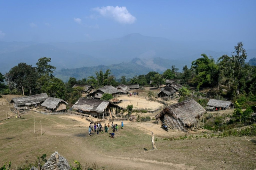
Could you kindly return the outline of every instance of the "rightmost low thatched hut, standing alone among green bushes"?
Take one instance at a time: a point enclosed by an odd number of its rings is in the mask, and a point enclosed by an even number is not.
[[[211,110],[225,110],[234,108],[234,104],[230,101],[210,99],[207,103],[207,109]]]

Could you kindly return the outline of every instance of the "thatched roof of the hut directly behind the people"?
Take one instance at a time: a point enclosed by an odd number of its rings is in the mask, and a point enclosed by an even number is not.
[[[102,113],[102,112],[104,112],[105,108],[108,105],[119,107],[118,105],[116,105],[110,101],[86,99],[86,98],[81,97],[80,99],[78,99],[77,102],[75,102],[75,104],[72,106],[72,108],[75,110],[82,110],[85,112],[94,111],[97,113]]]

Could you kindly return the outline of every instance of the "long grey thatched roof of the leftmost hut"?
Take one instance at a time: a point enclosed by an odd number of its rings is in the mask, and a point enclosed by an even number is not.
[[[32,105],[45,101],[48,98],[46,93],[35,94],[25,97],[16,97],[11,99],[11,103],[14,102],[17,106],[20,105]]]

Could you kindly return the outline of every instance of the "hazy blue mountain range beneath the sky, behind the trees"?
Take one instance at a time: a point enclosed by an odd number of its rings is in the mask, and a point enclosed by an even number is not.
[[[202,53],[215,59],[223,54],[231,56],[234,45],[236,44],[227,45],[211,41],[174,42],[137,33],[94,42],[0,42],[0,72],[8,72],[19,62],[35,66],[40,57],[50,57],[50,64],[57,68],[55,75],[64,81],[69,76],[80,75],[87,78],[85,76],[94,75],[99,69],[108,68],[111,68],[111,73],[117,78],[122,75],[132,77],[151,70],[161,73],[172,65],[182,70],[185,65],[190,67],[191,62]],[[248,60],[256,57],[256,49],[246,51]],[[69,69],[72,70],[70,73]],[[81,78],[80,76],[76,78]]]

